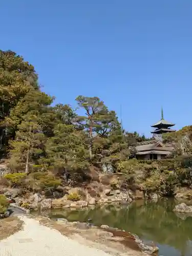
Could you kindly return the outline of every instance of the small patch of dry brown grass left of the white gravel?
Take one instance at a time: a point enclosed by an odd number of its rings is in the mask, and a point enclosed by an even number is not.
[[[0,219],[0,240],[6,239],[12,234],[22,229],[23,221],[17,217],[9,217],[6,219]]]

